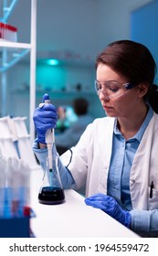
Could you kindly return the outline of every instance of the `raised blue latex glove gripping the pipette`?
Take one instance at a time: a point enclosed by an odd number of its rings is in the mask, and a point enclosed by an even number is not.
[[[58,121],[57,109],[54,105],[50,104],[48,94],[43,96],[41,104],[34,112],[33,120],[37,131],[37,142],[46,144],[45,134],[47,129],[53,129]]]

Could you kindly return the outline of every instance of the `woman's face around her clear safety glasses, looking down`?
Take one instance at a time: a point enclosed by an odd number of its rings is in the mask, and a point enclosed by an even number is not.
[[[129,80],[122,77],[119,73],[116,73],[109,66],[100,63],[97,68],[96,80],[100,82],[101,85],[105,81],[115,80],[119,81],[121,84],[130,82]],[[126,90],[124,94],[117,98],[108,98],[105,93],[100,91],[100,102],[106,112],[110,117],[127,117],[129,118],[131,114],[137,111],[137,108],[142,104],[142,93],[139,86],[132,88],[131,90]]]

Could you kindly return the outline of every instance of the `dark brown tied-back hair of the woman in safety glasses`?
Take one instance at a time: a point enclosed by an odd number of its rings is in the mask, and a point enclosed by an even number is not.
[[[115,41],[100,52],[96,69],[100,63],[110,66],[134,85],[148,83],[149,90],[144,101],[148,101],[153,110],[158,112],[158,87],[153,84],[156,64],[148,48],[131,40]]]

